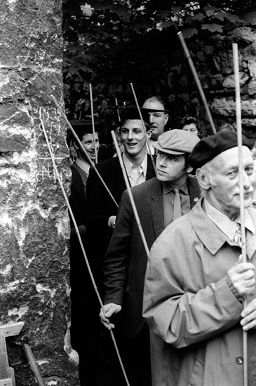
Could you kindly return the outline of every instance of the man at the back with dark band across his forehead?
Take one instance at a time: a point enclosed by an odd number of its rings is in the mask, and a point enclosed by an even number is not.
[[[149,114],[149,125],[152,130],[149,146],[151,154],[154,154],[153,142],[157,141],[159,135],[163,134],[165,130],[169,119],[168,109],[161,98],[153,96],[144,101],[142,111]]]

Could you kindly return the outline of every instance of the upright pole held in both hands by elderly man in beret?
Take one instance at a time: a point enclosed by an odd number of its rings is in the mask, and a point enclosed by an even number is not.
[[[233,44],[234,58],[234,76],[236,84],[236,131],[238,142],[238,161],[239,161],[239,192],[240,192],[240,217],[241,217],[241,239],[242,239],[242,256],[243,262],[246,262],[246,238],[245,238],[245,210],[244,210],[244,189],[243,189],[243,152],[242,152],[242,124],[241,124],[241,99],[240,99],[240,79],[239,79],[239,64],[238,64],[238,47]],[[243,302],[243,307],[246,307],[247,299]],[[243,331],[243,385],[248,386],[248,335],[247,331]]]

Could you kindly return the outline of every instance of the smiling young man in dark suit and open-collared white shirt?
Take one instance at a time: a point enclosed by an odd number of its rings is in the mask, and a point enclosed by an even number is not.
[[[151,129],[147,121],[144,126],[137,108],[127,107],[122,110],[120,138],[124,147],[123,163],[130,185],[139,185],[155,176],[154,166],[146,152],[146,140],[150,138]],[[147,117],[148,114],[145,114]],[[113,157],[96,165],[102,179],[119,204],[126,189],[118,157]],[[94,269],[97,284],[102,296],[102,261],[115,227],[117,206],[103,187],[95,171],[90,173],[87,182],[86,199],[86,253]]]

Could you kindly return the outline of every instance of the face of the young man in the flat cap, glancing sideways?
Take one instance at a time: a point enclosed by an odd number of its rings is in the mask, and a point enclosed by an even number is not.
[[[187,179],[184,155],[163,153],[159,150],[156,157],[156,177],[159,181],[180,186]]]

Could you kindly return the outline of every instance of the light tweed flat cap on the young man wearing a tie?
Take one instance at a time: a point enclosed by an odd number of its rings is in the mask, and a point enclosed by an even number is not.
[[[179,155],[191,153],[198,142],[197,135],[175,128],[159,135],[159,139],[153,142],[153,146],[163,153]]]

